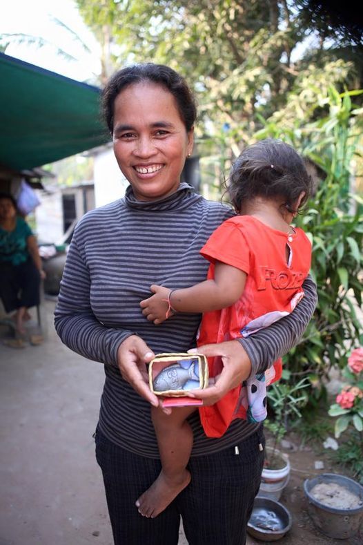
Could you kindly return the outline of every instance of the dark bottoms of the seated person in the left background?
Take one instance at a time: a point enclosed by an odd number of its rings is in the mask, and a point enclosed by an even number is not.
[[[39,305],[40,274],[32,258],[20,265],[0,263],[0,298],[6,312]]]

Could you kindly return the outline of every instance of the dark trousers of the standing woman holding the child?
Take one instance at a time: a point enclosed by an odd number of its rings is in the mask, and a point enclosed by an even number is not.
[[[160,462],[116,446],[97,430],[96,457],[115,545],[177,545],[180,515],[190,545],[244,545],[264,463],[259,443],[264,446],[262,430],[238,449],[191,458],[190,484],[163,513],[148,519],[135,501],[159,475]]]

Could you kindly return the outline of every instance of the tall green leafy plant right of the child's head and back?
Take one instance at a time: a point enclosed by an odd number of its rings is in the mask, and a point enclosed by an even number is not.
[[[284,358],[291,381],[311,381],[311,401],[333,366],[344,367],[356,339],[363,340],[356,308],[362,305],[363,200],[352,190],[361,157],[362,108],[352,102],[363,91],[338,93],[331,86],[325,96],[316,93],[308,121],[297,117],[284,124],[273,116],[258,138],[282,138],[311,161],[317,187],[296,224],[311,239],[311,274],[317,283],[318,305],[300,343]],[[325,115],[324,115],[325,114]]]

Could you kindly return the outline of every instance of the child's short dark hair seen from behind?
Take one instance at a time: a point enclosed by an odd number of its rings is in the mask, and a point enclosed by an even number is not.
[[[232,166],[227,191],[237,211],[255,197],[283,198],[284,207],[296,213],[295,202],[305,191],[300,208],[312,190],[311,176],[302,157],[282,140],[266,138],[248,146]]]

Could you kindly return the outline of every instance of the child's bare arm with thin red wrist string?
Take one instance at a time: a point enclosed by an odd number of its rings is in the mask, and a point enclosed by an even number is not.
[[[177,312],[209,312],[229,307],[242,296],[246,277],[241,269],[217,261],[214,280],[175,289],[171,294],[167,287],[152,285],[150,289],[154,295],[140,303],[142,314],[149,321],[160,324],[166,320],[169,303]]]

